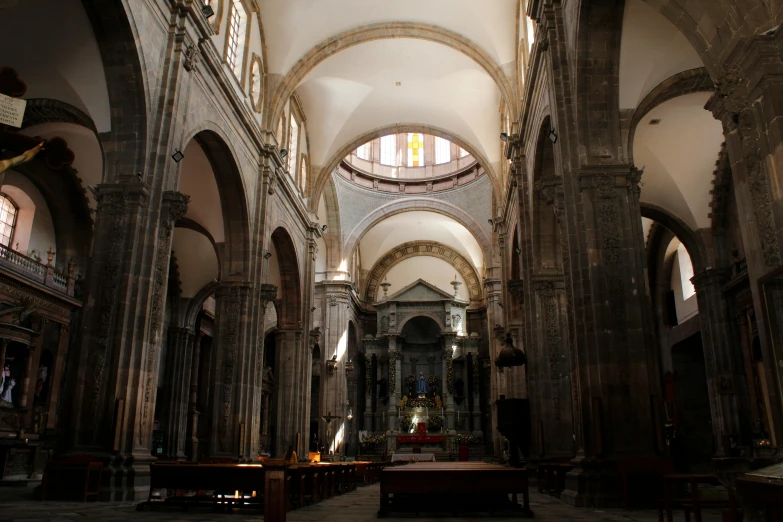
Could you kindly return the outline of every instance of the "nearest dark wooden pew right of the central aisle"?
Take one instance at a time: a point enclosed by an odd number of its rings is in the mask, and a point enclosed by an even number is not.
[[[521,506],[517,500],[520,493]],[[504,502],[506,506],[502,505]],[[419,462],[387,467],[381,471],[378,516],[392,511],[455,515],[464,511],[511,511],[531,517],[528,470],[482,462]]]

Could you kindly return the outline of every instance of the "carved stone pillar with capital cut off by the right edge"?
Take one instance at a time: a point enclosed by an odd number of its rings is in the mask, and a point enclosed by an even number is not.
[[[762,286],[765,276],[783,265],[783,189],[780,183],[783,90],[779,73],[783,57],[780,34],[778,31],[775,35],[755,35],[737,45],[727,56],[727,63],[715,81],[716,92],[705,107],[723,124],[738,224],[765,361],[783,360],[783,333],[779,328],[770,327],[769,321],[769,317],[780,314],[775,308],[783,296],[771,299],[764,295]],[[768,382],[783,379],[783,366],[779,364],[768,364],[765,371]],[[783,433],[783,398],[772,394],[770,400],[774,424],[770,431]],[[780,445],[779,435],[777,445]]]

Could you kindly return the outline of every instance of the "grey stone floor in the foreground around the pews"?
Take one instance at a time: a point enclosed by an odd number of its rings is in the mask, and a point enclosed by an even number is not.
[[[376,520],[380,487],[360,487],[347,495],[341,495],[320,502],[314,506],[292,511],[288,520],[316,521],[341,520],[362,521]],[[655,511],[626,511],[623,509],[587,509],[572,508],[559,500],[537,492],[531,494],[531,509],[535,520],[569,521],[590,520],[592,522],[656,522]],[[703,514],[703,522],[719,522],[720,513],[708,510]],[[440,517],[437,519],[408,516],[405,518],[387,518],[384,520],[470,520],[475,522],[485,517],[471,518]],[[501,517],[495,517],[499,519]],[[182,511],[136,511],[135,503],[88,503],[75,502],[36,502],[32,500],[31,490],[16,488],[0,488],[0,521],[3,522],[44,522],[71,520],[112,520],[112,521],[231,521],[245,522],[263,520],[254,512],[246,511],[235,514],[213,513],[208,510]],[[685,520],[682,513],[676,514],[675,521]]]

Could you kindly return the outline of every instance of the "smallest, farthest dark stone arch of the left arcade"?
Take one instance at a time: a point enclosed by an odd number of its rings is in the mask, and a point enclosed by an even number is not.
[[[280,328],[299,327],[302,322],[302,290],[299,264],[291,235],[283,227],[272,232],[272,243],[280,265],[280,299],[277,324]]]

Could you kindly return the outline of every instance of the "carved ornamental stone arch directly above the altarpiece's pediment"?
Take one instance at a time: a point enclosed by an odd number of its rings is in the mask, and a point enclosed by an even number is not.
[[[471,301],[481,301],[481,278],[473,264],[453,248],[437,241],[410,241],[397,245],[375,262],[367,276],[364,299],[367,303],[375,300],[375,292],[383,277],[396,265],[411,257],[427,256],[442,259],[453,266],[465,279]]]

